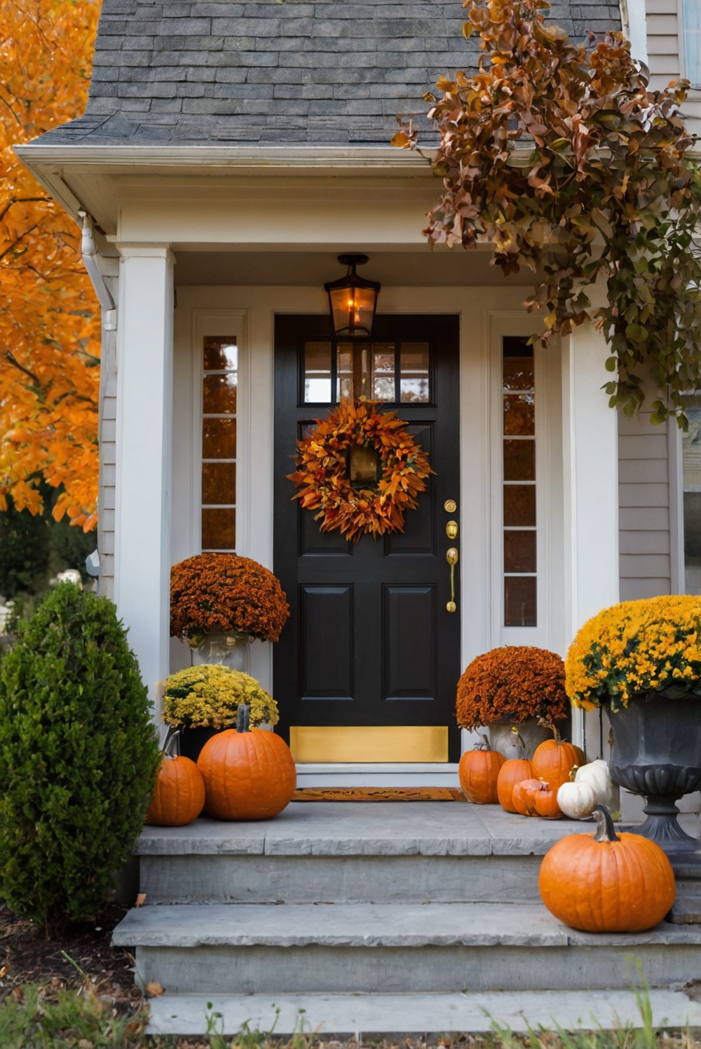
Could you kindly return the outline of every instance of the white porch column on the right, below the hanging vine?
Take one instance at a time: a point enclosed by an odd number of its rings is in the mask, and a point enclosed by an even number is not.
[[[568,645],[618,601],[618,420],[601,386],[606,339],[587,322],[562,339],[565,614]],[[599,714],[573,712],[574,743],[599,756]],[[606,741],[604,741],[606,743]]]

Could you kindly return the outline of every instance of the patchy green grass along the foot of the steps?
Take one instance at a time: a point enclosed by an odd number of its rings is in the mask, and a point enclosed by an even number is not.
[[[636,993],[641,1015],[636,1028],[621,1025],[616,1030],[575,1032],[558,1028],[523,1034],[493,1020],[488,1033],[446,1034],[431,1042],[437,1049],[701,1049],[699,1032],[656,1029],[644,984]],[[320,1039],[303,1010],[289,1039],[276,1037],[274,1029],[251,1030],[248,1024],[233,1036],[224,1035],[221,1016],[213,1011],[207,1034],[199,1037],[148,1035],[147,1024],[147,1005],[136,1003],[125,1013],[87,977],[78,988],[59,980],[27,983],[0,1002],[0,1049],[359,1049],[355,1041],[344,1046]],[[383,1039],[363,1044],[368,1049],[428,1049],[419,1037],[401,1046]]]

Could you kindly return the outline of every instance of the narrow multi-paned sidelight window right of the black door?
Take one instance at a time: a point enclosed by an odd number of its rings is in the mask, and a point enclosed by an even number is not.
[[[503,339],[504,625],[537,624],[533,347]]]

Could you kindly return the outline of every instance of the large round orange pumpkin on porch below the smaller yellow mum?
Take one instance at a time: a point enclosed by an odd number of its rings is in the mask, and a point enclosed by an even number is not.
[[[249,728],[246,704],[236,728],[212,736],[197,768],[205,780],[205,807],[215,819],[270,819],[290,804],[297,773],[290,748],[274,732]]]

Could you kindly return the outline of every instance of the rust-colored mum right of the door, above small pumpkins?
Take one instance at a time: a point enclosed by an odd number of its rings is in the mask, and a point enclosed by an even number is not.
[[[492,648],[473,659],[458,682],[455,716],[463,728],[533,716],[561,721],[569,711],[565,663],[547,648]]]

